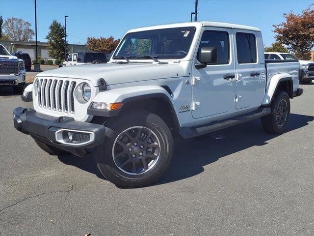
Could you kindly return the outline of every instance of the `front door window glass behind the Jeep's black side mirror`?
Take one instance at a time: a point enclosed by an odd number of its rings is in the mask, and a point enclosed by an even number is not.
[[[197,59],[203,47],[217,48],[217,62],[213,64],[229,63],[229,34],[224,31],[204,31],[197,53]]]

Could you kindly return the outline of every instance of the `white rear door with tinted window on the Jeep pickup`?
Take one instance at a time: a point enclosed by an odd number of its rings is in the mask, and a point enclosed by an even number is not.
[[[235,108],[256,108],[262,104],[266,82],[262,34],[260,31],[241,29],[233,29],[233,32],[236,72]]]

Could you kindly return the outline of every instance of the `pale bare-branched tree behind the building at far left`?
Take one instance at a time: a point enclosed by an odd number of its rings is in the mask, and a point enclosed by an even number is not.
[[[34,30],[30,29],[31,24],[27,21],[18,18],[8,18],[3,29],[10,40],[28,41],[35,35]]]

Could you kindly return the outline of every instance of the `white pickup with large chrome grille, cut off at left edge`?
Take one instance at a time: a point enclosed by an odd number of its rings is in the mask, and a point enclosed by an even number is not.
[[[26,70],[24,60],[12,56],[0,44],[0,86],[12,86],[14,92],[22,92]]]

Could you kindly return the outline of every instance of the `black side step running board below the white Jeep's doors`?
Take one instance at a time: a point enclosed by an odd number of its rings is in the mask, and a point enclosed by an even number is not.
[[[195,127],[183,127],[179,130],[179,134],[183,139],[193,138],[199,135],[211,133],[220,129],[228,128],[237,124],[241,124],[252,119],[261,118],[271,113],[269,107],[261,107],[257,111],[247,113],[241,116],[224,119],[220,121],[214,121],[209,124],[195,126]]]

